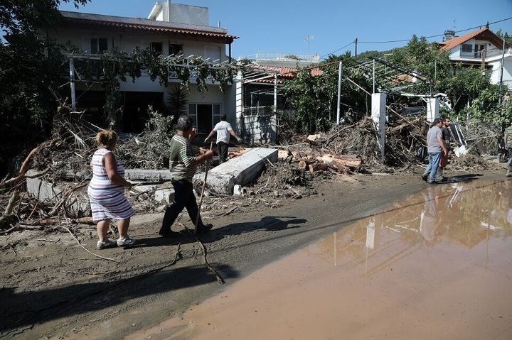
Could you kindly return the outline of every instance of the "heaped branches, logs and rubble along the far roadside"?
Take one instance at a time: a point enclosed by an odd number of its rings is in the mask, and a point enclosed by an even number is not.
[[[163,212],[165,204],[172,202],[174,197],[169,182],[170,172],[167,170],[169,158],[166,155],[171,139],[171,121],[154,111],[150,112],[150,116],[146,131],[137,136],[121,138],[115,151],[117,160],[127,168],[127,179],[137,183],[127,192],[127,198],[138,213]],[[214,168],[217,163],[210,160],[200,165],[196,189],[202,184],[201,171],[208,167],[210,192],[203,203],[203,210],[214,213],[213,216],[221,216],[252,204],[277,207],[284,198],[299,199],[316,194],[318,182],[347,179],[356,172],[412,172],[417,165],[425,162],[417,157],[417,149],[425,146],[428,128],[427,121],[420,117],[402,117],[399,124],[388,124],[384,163],[379,159],[377,131],[370,117],[351,124],[332,126],[326,133],[309,136],[281,131],[281,144],[268,146],[274,150],[271,154],[275,153],[275,157],[260,159],[257,167],[250,171],[250,177],[240,175],[241,170],[239,174],[228,172],[235,170],[234,165],[243,163],[243,159],[250,158],[250,154],[258,149],[230,148],[229,157],[234,158],[230,163]],[[6,234],[16,228],[45,226],[48,221],[57,218],[77,223],[87,216],[84,207],[73,207],[78,202],[82,202],[82,206],[87,205],[84,203],[87,201],[84,192],[91,177],[89,163],[97,148],[97,130],[97,126],[80,119],[80,113],[70,112],[65,106],[58,109],[52,138],[28,153],[17,176],[0,182],[0,202],[4,210],[0,218],[0,233]],[[497,168],[499,165],[491,165],[480,155],[484,149],[491,153],[496,146],[497,150],[496,131],[481,125],[471,126],[467,131],[471,136],[469,145],[465,146],[469,153],[460,158],[452,157],[447,170],[475,172]],[[194,148],[196,152],[206,150],[201,146]],[[29,168],[32,169],[30,172]],[[224,175],[227,177],[221,178]],[[220,185],[220,189],[212,190],[215,180],[224,184]],[[50,199],[22,193],[25,183],[32,188],[31,192],[39,193],[42,187],[48,185],[50,189],[47,191],[51,197],[46,198]],[[237,195],[230,196],[235,185],[238,185]],[[78,199],[80,195],[82,198]],[[223,208],[224,204],[218,204],[226,196],[235,205]]]

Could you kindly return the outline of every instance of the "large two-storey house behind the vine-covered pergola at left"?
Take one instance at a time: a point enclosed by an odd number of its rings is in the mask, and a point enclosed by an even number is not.
[[[208,8],[171,4],[169,1],[156,2],[148,18],[69,11],[60,13],[63,16],[60,28],[48,32],[48,35],[59,43],[79,48],[85,55],[114,49],[130,53],[139,46],[151,48],[164,56],[181,52],[185,57],[198,55],[220,63],[231,60],[231,44],[238,38],[228,35],[225,28],[208,26]],[[148,75],[142,75],[135,82],[129,78],[122,83],[122,130],[141,131],[147,106],[164,104],[169,98],[169,89],[177,82],[178,79],[169,79],[169,85],[163,87],[158,79],[152,82]],[[188,114],[193,116],[200,132],[210,131],[221,113],[235,122],[234,87],[230,86],[223,94],[218,90],[218,84],[208,84],[208,92],[200,93],[191,80]],[[101,111],[105,103],[101,87],[87,88],[86,84],[78,82],[76,89],[78,109],[87,109],[92,114]]]

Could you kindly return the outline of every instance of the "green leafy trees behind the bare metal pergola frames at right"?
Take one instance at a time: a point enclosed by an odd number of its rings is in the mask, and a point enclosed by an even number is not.
[[[509,35],[503,35],[506,39]],[[331,55],[319,67],[324,72],[312,77],[306,70],[284,85],[284,94],[297,111],[296,127],[303,133],[313,133],[328,128],[334,123],[337,99],[338,65],[343,61],[343,79],[341,83],[342,116],[346,120],[357,120],[368,114],[369,97],[363,91],[372,92],[372,79],[364,74],[360,67],[351,67],[366,58],[386,56],[386,60],[417,72],[427,80],[411,84],[404,79],[394,86],[408,85],[408,92],[417,94],[447,94],[452,104],[449,116],[454,118],[494,121],[506,126],[512,122],[510,106],[498,106],[498,86],[490,84],[490,74],[480,67],[454,65],[449,55],[437,43],[428,43],[425,37],[412,35],[410,42],[390,51],[368,51],[356,58],[350,53],[342,56]],[[334,62],[329,65],[329,62]],[[353,82],[361,88],[356,87]],[[388,80],[377,79],[377,87],[389,87]],[[412,85],[412,86],[411,86]],[[506,93],[503,87],[502,93]],[[393,97],[398,106],[418,106],[422,102],[417,98]]]

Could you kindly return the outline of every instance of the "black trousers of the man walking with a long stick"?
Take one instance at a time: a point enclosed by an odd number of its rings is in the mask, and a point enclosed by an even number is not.
[[[183,211],[183,208],[187,209],[188,216],[190,217],[193,225],[196,225],[196,218],[198,215],[198,206],[196,202],[196,196],[193,194],[192,183],[188,180],[176,180],[172,182],[174,187],[174,201],[170,207],[167,207],[164,214],[164,221],[162,221],[162,227],[160,232],[165,234],[171,230],[171,226],[176,221],[178,214]],[[201,216],[199,216],[198,228],[203,226]]]

